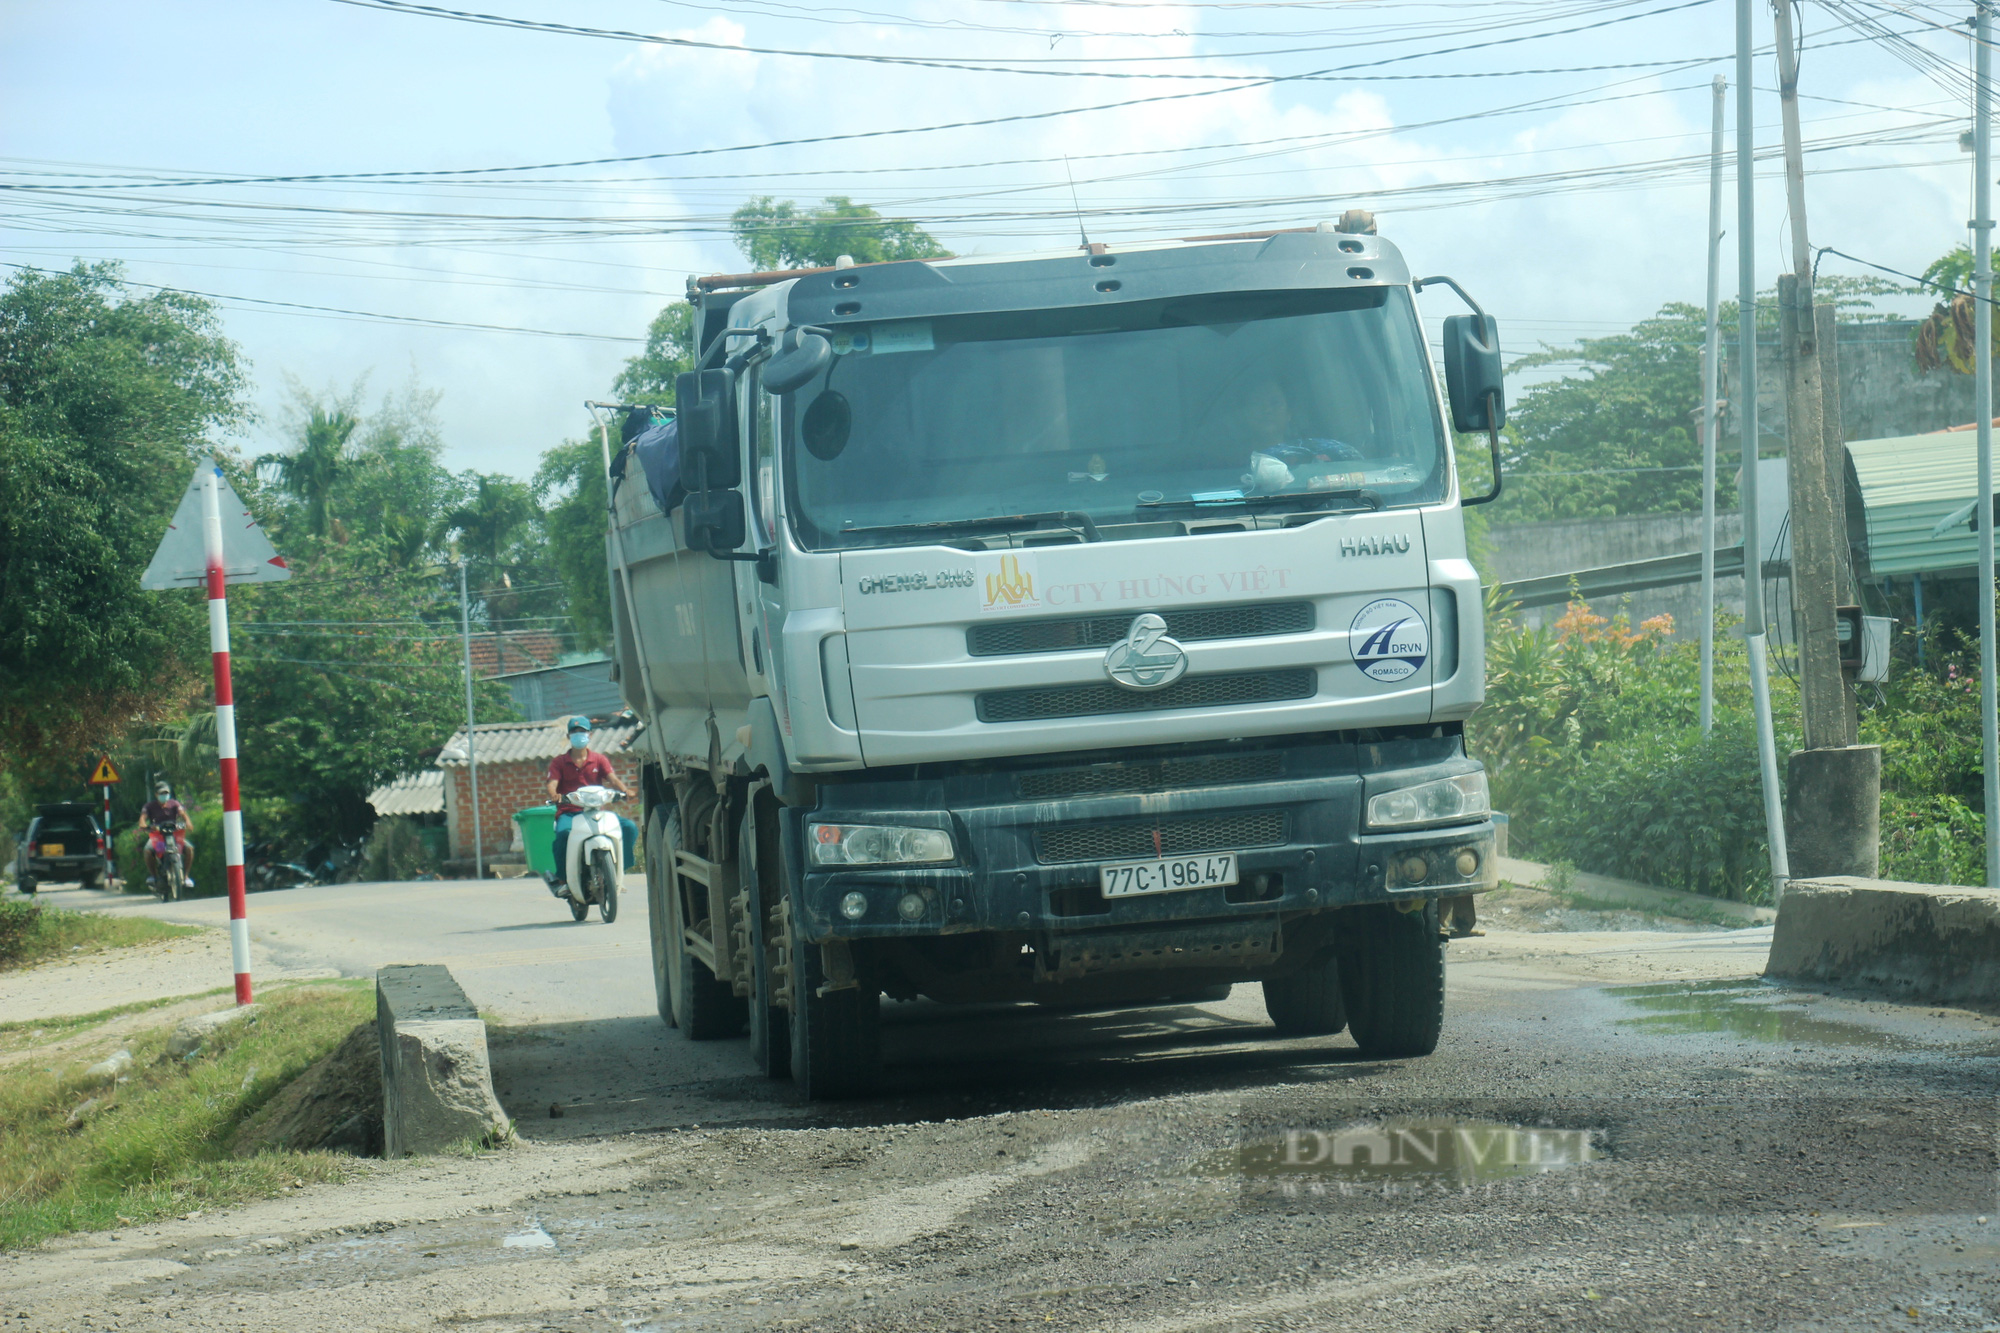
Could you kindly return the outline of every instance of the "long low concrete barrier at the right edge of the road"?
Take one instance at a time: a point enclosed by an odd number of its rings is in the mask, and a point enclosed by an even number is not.
[[[1764,975],[1996,1005],[2000,891],[1796,879],[1784,889]]]

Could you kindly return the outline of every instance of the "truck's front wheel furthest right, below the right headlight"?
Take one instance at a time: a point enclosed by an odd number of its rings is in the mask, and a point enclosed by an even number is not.
[[[1348,925],[1352,921],[1352,925]],[[1368,1059],[1430,1055],[1444,1029],[1444,941],[1438,905],[1400,913],[1388,903],[1342,915],[1340,995],[1348,1031]]]

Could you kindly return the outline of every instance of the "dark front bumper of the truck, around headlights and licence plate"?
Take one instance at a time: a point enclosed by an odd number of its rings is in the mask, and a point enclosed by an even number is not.
[[[1168,929],[1446,897],[1496,883],[1490,819],[1398,833],[1362,829],[1368,795],[1478,769],[1456,735],[1378,745],[1310,737],[1254,755],[1256,767],[1272,771],[1268,781],[1162,783],[1158,791],[1060,799],[1024,793],[1102,785],[1114,779],[1094,775],[1134,767],[1180,775],[1222,767],[1210,757],[1178,769],[1172,759],[1162,767],[1146,755],[1098,755],[1096,763],[1048,757],[1040,767],[902,771],[822,785],[816,809],[784,813],[784,855],[802,885],[806,933],[858,941]],[[1226,759],[1240,757],[1230,751]],[[820,867],[806,859],[812,823],[942,829],[958,855],[950,865]],[[1100,893],[1104,865],[1204,853],[1234,853],[1238,883],[1118,899]],[[860,911],[842,911],[842,903]]]

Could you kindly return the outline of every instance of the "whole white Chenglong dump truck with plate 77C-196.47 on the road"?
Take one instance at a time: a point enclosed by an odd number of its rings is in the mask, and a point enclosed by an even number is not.
[[[664,1021],[808,1097],[874,1085],[882,997],[1254,981],[1434,1049],[1438,901],[1496,883],[1462,506],[1506,408],[1494,320],[1460,292],[1442,392],[1458,284],[1374,230],[690,282],[608,532]]]

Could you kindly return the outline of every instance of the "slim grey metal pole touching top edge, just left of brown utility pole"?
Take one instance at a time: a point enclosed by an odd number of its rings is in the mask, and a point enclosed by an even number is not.
[[[1756,713],[1758,777],[1764,785],[1764,837],[1770,845],[1770,895],[1776,905],[1792,877],[1778,791],[1778,745],[1770,725],[1770,671],[1764,658],[1764,546],[1756,520],[1756,120],[1750,100],[1752,0],[1736,0],[1736,338],[1742,426],[1744,510],[1744,648],[1750,656],[1750,707]]]

